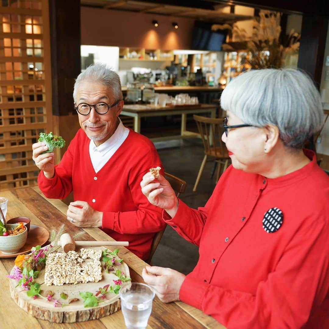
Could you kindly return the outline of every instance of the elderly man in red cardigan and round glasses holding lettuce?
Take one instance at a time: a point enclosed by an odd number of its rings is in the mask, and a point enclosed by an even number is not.
[[[139,182],[159,155],[146,137],[125,127],[118,118],[123,107],[119,76],[96,64],[80,73],[74,85],[74,109],[81,129],[70,142],[61,162],[44,153],[45,143],[32,146],[33,160],[41,170],[40,190],[47,198],[74,202],[67,219],[78,227],[101,227],[145,260],[154,233],[164,228],[161,209],[150,205]],[[162,170],[162,174],[163,174]]]

